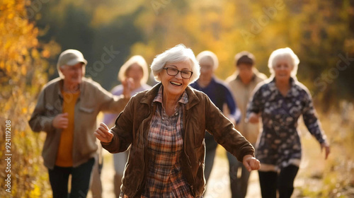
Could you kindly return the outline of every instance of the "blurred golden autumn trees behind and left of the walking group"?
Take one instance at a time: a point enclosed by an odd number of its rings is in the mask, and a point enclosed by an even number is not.
[[[221,79],[235,71],[234,55],[243,50],[255,54],[257,68],[269,76],[270,53],[290,47],[300,59],[297,78],[316,106],[329,112],[341,100],[353,102],[354,0],[2,0],[0,135],[11,120],[13,197],[50,196],[40,158],[45,134],[34,134],[27,123],[40,88],[58,76],[59,52],[83,52],[86,76],[109,91],[120,83],[116,76],[130,56],[140,54],[151,64],[179,43],[195,54],[215,52]],[[4,145],[1,138],[1,158]]]

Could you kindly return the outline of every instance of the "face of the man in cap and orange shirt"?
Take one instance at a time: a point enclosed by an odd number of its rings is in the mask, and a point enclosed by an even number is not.
[[[85,66],[82,62],[73,66],[64,65],[59,69],[64,76],[64,83],[69,87],[78,86],[85,75]]]

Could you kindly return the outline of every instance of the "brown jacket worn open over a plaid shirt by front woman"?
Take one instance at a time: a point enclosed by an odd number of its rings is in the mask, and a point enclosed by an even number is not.
[[[127,150],[130,146],[129,158],[125,166],[122,180],[122,192],[127,197],[140,197],[144,189],[149,156],[147,154],[147,134],[156,105],[152,103],[159,91],[161,83],[149,91],[138,93],[131,98],[112,128],[114,134],[110,143],[102,143],[110,153]],[[204,156],[205,129],[210,132],[227,151],[242,161],[245,155],[254,156],[253,146],[244,136],[234,129],[222,112],[215,107],[204,93],[188,86],[188,103],[183,109],[183,155],[180,159],[185,176],[194,197],[200,197],[205,191]]]

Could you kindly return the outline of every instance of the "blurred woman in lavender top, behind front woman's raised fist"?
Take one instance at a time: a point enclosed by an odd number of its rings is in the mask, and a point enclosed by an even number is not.
[[[118,73],[118,80],[122,82],[122,85],[115,86],[111,93],[113,95],[121,95],[123,92],[123,84],[127,83],[128,88],[130,88],[130,96],[135,95],[140,91],[145,91],[152,88],[147,85],[147,79],[149,78],[147,70],[147,62],[142,56],[136,55],[131,57],[125,64],[120,67]],[[103,122],[108,124],[108,127],[113,127],[115,118],[118,114],[105,114]],[[114,188],[115,196],[120,195],[120,185],[122,184],[122,175],[125,168],[125,163],[127,163],[127,151],[122,153],[114,153]]]

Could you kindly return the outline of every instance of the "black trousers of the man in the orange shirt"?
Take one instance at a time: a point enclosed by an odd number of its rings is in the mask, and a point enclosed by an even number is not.
[[[76,168],[55,166],[49,169],[49,180],[52,186],[53,198],[83,198],[89,192],[91,171],[95,158]],[[68,193],[69,175],[72,175],[72,189]]]

